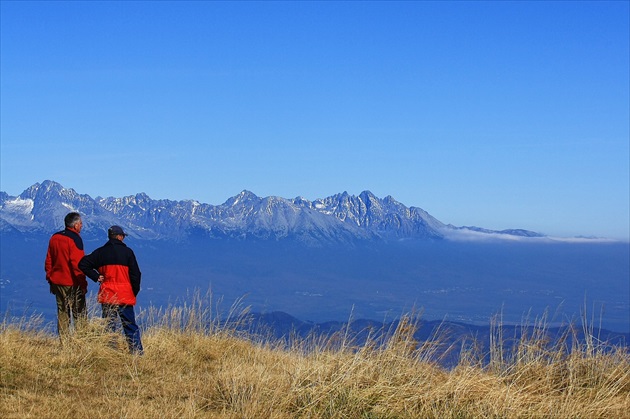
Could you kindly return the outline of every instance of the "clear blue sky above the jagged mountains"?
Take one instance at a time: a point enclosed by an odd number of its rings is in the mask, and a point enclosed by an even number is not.
[[[370,190],[628,239],[629,2],[1,2],[1,190]]]

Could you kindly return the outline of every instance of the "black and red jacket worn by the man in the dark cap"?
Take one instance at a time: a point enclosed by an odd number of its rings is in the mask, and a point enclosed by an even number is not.
[[[101,304],[135,305],[140,291],[140,268],[136,255],[125,243],[109,239],[79,262],[79,269],[93,281],[105,279],[98,290]]]

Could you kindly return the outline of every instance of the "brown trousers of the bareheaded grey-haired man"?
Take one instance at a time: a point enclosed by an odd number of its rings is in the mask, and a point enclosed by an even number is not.
[[[75,330],[87,322],[85,293],[81,287],[50,284],[50,292],[57,301],[57,331],[62,338],[70,333],[74,322]]]

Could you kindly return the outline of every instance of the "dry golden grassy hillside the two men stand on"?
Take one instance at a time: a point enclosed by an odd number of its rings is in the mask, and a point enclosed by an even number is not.
[[[630,417],[627,348],[587,340],[566,351],[534,334],[507,354],[499,331],[490,353],[465,345],[447,370],[429,361],[440,337],[419,344],[408,321],[384,345],[338,334],[287,346],[207,314],[152,312],[144,356],[96,318],[63,344],[36,320],[5,321],[0,417]]]

